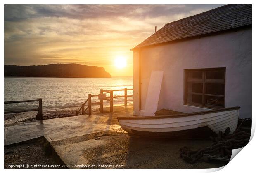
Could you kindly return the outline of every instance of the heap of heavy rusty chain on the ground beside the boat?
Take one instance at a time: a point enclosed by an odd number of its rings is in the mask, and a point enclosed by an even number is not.
[[[224,133],[220,131],[217,137],[210,137],[211,141],[213,141],[211,146],[196,151],[182,147],[180,148],[180,157],[188,163],[195,163],[197,160],[201,159],[204,154],[211,156],[219,154],[220,157],[228,156],[228,158],[231,158],[232,149],[247,145],[251,134],[241,130],[236,130],[233,134],[229,133],[230,128],[228,127]]]

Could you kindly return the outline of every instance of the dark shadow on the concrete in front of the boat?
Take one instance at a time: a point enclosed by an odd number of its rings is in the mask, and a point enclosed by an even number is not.
[[[226,162],[188,164],[180,158],[179,148],[193,150],[209,145],[209,139],[165,139],[130,137],[124,168],[218,168]]]

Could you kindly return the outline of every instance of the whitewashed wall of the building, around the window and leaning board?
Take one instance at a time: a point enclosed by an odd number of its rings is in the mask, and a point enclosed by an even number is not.
[[[183,105],[184,69],[226,67],[225,107],[240,106],[240,117],[251,118],[251,28],[135,50],[135,115],[139,115],[139,58],[141,109],[145,108],[151,71],[164,71],[158,110],[208,110]]]

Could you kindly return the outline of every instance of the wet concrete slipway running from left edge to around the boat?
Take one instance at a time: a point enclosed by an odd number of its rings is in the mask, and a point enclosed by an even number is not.
[[[55,155],[71,168],[116,166],[123,168],[218,168],[221,162],[187,164],[179,148],[196,150],[211,145],[208,139],[136,138],[124,132],[117,116],[132,116],[132,106],[118,106],[114,113],[92,113],[50,120],[5,125],[5,145],[45,136]],[[95,138],[99,136],[99,138]],[[109,167],[106,167],[109,168]]]

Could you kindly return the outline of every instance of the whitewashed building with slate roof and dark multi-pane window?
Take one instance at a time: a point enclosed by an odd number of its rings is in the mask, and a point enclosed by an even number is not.
[[[167,23],[133,48],[134,114],[152,71],[164,71],[158,110],[240,106],[251,118],[251,5],[225,5]]]

